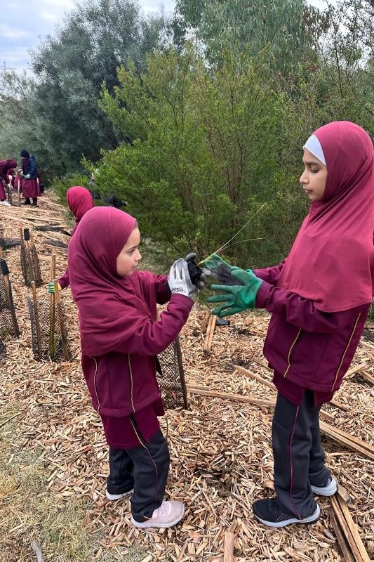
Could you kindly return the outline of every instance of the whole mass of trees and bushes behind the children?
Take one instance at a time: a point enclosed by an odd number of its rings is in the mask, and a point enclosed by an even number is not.
[[[349,119],[374,135],[373,1],[326,6],[79,4],[31,53],[31,78],[3,74],[0,157],[32,150],[62,197],[95,170],[95,190],[175,254],[204,257],[247,225],[225,255],[276,263],[307,212],[309,134]]]

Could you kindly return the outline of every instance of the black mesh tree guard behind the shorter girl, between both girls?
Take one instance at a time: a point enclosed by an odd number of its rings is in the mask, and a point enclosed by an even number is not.
[[[187,388],[178,337],[158,355],[158,360],[160,368],[157,369],[157,381],[163,402],[168,408],[182,406],[187,409]]]

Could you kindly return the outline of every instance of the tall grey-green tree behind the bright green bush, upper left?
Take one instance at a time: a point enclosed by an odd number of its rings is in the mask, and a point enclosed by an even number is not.
[[[104,83],[113,91],[116,68],[126,67],[129,56],[144,70],[145,53],[159,45],[163,27],[163,16],[145,17],[133,0],[81,2],[32,51],[34,114],[42,119],[44,143],[66,171],[79,168],[82,155],[97,159],[102,148],[126,138],[98,106],[100,89]]]

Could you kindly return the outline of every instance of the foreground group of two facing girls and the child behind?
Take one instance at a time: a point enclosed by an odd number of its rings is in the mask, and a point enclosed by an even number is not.
[[[338,488],[323,460],[319,410],[342,383],[373,299],[370,137],[351,122],[332,122],[307,140],[303,162],[300,183],[311,205],[286,259],[255,270],[217,255],[206,261],[220,281],[207,299],[219,303],[214,314],[272,313],[264,354],[278,390],[276,496],[253,504],[255,517],[270,527],[314,523],[320,514],[314,495]],[[156,356],[187,322],[203,274],[182,258],[168,275],[138,270],[136,219],[112,207],[92,208],[84,188],[72,190],[68,201],[79,194],[81,204],[73,211],[79,226],[65,275],[78,308],[82,370],[109,445],[106,495],[130,497],[135,527],[171,527],[184,505],[164,499],[170,461],[158,420],[164,412]],[[156,305],[166,303],[158,318]]]

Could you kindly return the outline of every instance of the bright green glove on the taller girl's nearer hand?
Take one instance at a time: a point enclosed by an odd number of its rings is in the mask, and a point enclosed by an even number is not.
[[[231,275],[239,280],[241,285],[211,285],[211,289],[222,291],[223,294],[208,296],[206,299],[210,303],[225,303],[212,311],[220,318],[246,311],[247,308],[255,308],[256,296],[262,283],[262,279],[258,279],[251,271],[237,269],[232,271]]]

